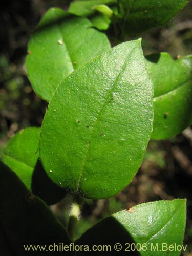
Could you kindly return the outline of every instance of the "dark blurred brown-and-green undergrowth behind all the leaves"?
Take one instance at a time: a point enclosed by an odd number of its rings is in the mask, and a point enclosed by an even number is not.
[[[49,7],[66,9],[70,1],[7,0],[0,10],[0,158],[7,141],[27,126],[41,126],[47,103],[33,92],[26,75],[25,58],[29,38]],[[167,25],[143,36],[144,54],[166,51],[177,58],[191,54],[192,1]],[[129,39],[129,38],[127,38]],[[143,163],[121,193],[106,200],[86,200],[76,237],[111,213],[136,204],[187,198],[187,225],[182,256],[192,256],[192,129],[165,141],[150,141]],[[67,224],[72,196],[51,206]]]

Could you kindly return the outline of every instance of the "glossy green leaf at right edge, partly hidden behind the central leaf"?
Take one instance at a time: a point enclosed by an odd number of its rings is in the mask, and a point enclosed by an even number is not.
[[[168,53],[146,56],[154,83],[152,139],[167,139],[192,124],[192,56],[173,60]]]

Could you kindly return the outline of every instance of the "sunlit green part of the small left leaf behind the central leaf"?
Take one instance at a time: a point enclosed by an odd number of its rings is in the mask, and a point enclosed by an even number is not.
[[[8,142],[2,161],[31,188],[31,177],[38,159],[40,129],[28,127],[19,131]]]

